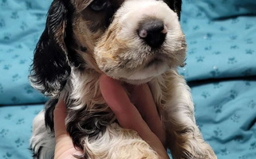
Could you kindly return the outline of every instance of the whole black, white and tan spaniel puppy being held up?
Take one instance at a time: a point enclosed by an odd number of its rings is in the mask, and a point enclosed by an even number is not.
[[[100,93],[102,73],[148,83],[174,158],[216,158],[176,70],[186,55],[180,10],[181,0],[53,0],[30,75],[33,87],[50,97],[33,122],[34,158],[53,158],[58,99],[65,100],[67,131],[85,158],[158,158],[134,130],[116,122]]]

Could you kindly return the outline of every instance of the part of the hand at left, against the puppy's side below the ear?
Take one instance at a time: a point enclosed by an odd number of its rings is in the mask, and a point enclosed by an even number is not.
[[[74,155],[82,156],[81,150],[73,145],[65,126],[66,108],[63,100],[59,99],[54,111],[54,132],[56,138],[54,159],[77,159]]]

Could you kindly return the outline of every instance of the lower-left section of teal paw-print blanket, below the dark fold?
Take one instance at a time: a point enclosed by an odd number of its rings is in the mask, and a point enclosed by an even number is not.
[[[29,150],[32,121],[35,112],[38,113],[42,108],[43,105],[0,107],[1,159],[26,159],[32,156]]]

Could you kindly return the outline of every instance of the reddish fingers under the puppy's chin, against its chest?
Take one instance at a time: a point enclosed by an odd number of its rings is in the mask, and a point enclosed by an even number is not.
[[[124,87],[131,94],[130,98]],[[101,94],[116,115],[120,126],[136,130],[160,158],[169,158],[163,146],[166,142],[163,123],[157,113],[148,84],[139,86],[126,84],[124,87],[118,80],[113,80],[106,75],[100,76]]]

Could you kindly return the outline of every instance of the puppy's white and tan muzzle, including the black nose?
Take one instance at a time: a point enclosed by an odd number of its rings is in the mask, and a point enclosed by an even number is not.
[[[128,83],[145,83],[183,64],[179,17],[163,1],[125,1],[94,48],[100,70]]]

